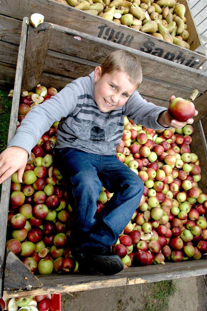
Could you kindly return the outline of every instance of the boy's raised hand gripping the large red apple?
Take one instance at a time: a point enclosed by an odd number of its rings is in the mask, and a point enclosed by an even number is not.
[[[193,118],[189,118],[186,121],[178,121],[176,119],[173,119],[171,117],[171,115],[169,114],[168,111],[171,111],[171,102],[172,100],[174,100],[176,97],[175,96],[171,96],[170,98],[170,105],[168,107],[168,110],[164,111],[158,118],[158,123],[161,124],[162,126],[170,126],[176,129],[181,129],[182,127],[184,127],[187,123],[188,124],[192,124],[194,122]],[[189,101],[189,105],[190,105],[190,109],[192,111],[192,114],[194,113],[194,116],[198,114],[198,111],[195,110],[194,105]],[[194,108],[193,108],[194,107]],[[187,111],[189,112],[190,109],[188,108]],[[191,114],[191,115],[192,115]]]

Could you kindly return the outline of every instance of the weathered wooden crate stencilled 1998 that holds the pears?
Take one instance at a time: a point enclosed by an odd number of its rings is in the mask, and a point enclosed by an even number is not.
[[[30,0],[2,0],[0,87],[7,86],[9,88],[14,83],[14,72],[22,27],[21,21],[24,16],[30,17],[32,13],[36,12],[44,15],[45,22],[52,22],[75,30],[77,36],[84,31],[89,35],[198,69],[206,61],[205,51],[201,46],[187,1],[181,0],[180,2],[186,7],[186,23],[190,31],[188,43],[191,45],[191,50],[52,0],[32,0],[32,2]],[[65,40],[67,41],[66,36]],[[66,41],[61,47],[62,49],[67,44]],[[59,42],[60,39],[57,38],[57,46],[53,46],[53,51],[59,51]],[[199,52],[195,51],[195,49],[199,49]],[[102,53],[102,55],[104,54]],[[92,59],[92,61],[100,61],[99,56],[97,59]]]

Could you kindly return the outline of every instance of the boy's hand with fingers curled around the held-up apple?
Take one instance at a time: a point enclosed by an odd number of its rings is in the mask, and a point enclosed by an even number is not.
[[[174,98],[176,98],[174,95],[171,96],[170,103],[172,100],[174,100]],[[197,114],[198,114],[198,111],[195,110],[194,115],[197,115]],[[187,119],[186,122],[179,122],[176,119],[172,119],[170,114],[167,112],[167,110],[164,111],[158,119],[158,123],[161,124],[162,126],[165,126],[165,127],[170,126],[170,127],[176,128],[176,129],[181,129],[186,124],[192,124],[193,122],[194,122],[193,118]]]

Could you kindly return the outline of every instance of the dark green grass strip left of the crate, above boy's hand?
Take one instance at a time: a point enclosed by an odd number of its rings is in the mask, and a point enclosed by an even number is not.
[[[12,99],[8,97],[8,92],[0,90],[0,153],[2,153],[2,151],[7,147],[11,108]],[[2,185],[0,185],[0,193],[1,190]]]

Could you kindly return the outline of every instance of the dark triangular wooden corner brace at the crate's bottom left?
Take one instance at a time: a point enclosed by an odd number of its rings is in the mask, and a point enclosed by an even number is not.
[[[14,255],[14,253],[7,250],[4,271],[4,290],[30,290],[41,286],[42,283],[31,273],[22,261]]]

